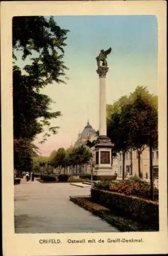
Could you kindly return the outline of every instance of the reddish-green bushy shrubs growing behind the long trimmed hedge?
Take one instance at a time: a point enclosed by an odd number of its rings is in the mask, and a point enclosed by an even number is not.
[[[130,179],[121,181],[100,181],[94,188],[123,193],[128,196],[137,196],[150,199],[150,184],[140,179]],[[154,188],[154,199],[158,200],[159,191]]]

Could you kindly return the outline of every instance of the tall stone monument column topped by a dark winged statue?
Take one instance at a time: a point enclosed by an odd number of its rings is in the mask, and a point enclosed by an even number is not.
[[[111,48],[107,51],[101,50],[96,58],[98,63],[97,73],[99,74],[99,137],[94,145],[95,147],[95,166],[93,171],[93,180],[111,180],[114,177],[112,171],[112,143],[107,137],[106,126],[106,74],[109,70],[107,67],[106,57],[111,52]],[[103,65],[100,65],[100,61]]]

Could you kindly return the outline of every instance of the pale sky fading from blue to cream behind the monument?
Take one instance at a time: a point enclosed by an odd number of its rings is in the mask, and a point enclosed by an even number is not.
[[[53,111],[62,117],[52,120],[60,126],[40,147],[42,155],[75,142],[89,119],[99,129],[99,77],[95,57],[112,47],[108,56],[107,103],[129,94],[137,86],[147,86],[157,94],[157,18],[152,15],[56,16],[57,24],[68,29],[65,47],[67,84],[47,86],[43,93],[52,97]]]

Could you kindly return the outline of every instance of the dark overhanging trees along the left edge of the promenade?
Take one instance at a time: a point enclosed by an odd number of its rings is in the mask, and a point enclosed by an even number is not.
[[[13,136],[14,168],[31,170],[38,148],[34,139],[43,133],[43,143],[59,127],[50,120],[52,99],[41,93],[47,84],[64,82],[63,62],[66,34],[53,17],[16,16],[12,24],[13,46]]]

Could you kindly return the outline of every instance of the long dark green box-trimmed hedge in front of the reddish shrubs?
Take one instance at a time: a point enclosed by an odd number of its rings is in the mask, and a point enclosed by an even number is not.
[[[159,230],[159,205],[156,202],[95,188],[91,189],[91,199],[117,215]]]

